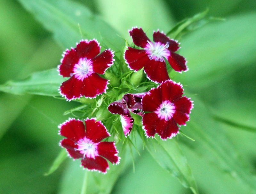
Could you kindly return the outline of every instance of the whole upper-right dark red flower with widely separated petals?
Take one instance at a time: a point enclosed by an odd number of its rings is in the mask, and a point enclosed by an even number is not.
[[[170,40],[164,33],[154,32],[154,42],[148,39],[141,28],[133,28],[129,31],[129,34],[132,37],[133,43],[143,48],[141,50],[128,47],[128,50],[125,51],[124,59],[130,69],[138,71],[144,68],[143,70],[147,74],[148,79],[155,83],[161,83],[170,79],[164,58],[175,71],[188,70],[185,58],[174,53],[180,48],[179,44],[174,40]]]

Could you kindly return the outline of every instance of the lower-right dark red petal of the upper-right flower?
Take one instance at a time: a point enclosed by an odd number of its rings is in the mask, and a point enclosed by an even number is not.
[[[171,55],[167,60],[175,71],[181,72],[188,70],[188,67],[186,66],[187,61],[179,54],[171,52]]]

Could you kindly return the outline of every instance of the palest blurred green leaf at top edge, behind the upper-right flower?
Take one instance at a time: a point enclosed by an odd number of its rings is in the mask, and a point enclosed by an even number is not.
[[[131,37],[127,31],[134,26],[141,27],[148,37],[152,37],[153,30],[168,32],[175,25],[172,13],[164,1],[96,0],[96,2],[104,20],[119,30],[128,42],[131,42]]]

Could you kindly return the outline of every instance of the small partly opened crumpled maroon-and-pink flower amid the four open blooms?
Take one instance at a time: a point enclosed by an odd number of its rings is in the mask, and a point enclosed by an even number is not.
[[[125,137],[130,134],[134,122],[134,119],[132,118],[130,111],[140,116],[143,115],[141,113],[141,98],[145,94],[146,93],[125,94],[122,100],[117,100],[108,105],[109,112],[111,112],[112,114],[120,115],[121,124],[123,127]]]

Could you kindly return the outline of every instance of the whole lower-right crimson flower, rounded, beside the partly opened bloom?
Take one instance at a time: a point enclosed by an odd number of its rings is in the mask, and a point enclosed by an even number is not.
[[[142,110],[147,112],[143,115],[142,125],[147,137],[153,138],[158,133],[162,140],[166,140],[179,133],[177,124],[186,125],[193,101],[182,94],[182,85],[167,80],[142,98]]]

